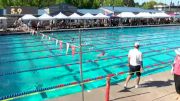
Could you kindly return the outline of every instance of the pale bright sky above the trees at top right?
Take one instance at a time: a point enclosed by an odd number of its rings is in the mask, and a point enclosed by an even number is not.
[[[143,2],[147,2],[147,1],[151,1],[151,0],[134,0],[134,1],[142,4]],[[180,0],[154,0],[154,1],[162,2],[162,3],[166,3],[166,4],[170,4],[170,2],[172,1],[175,5],[178,4],[178,1],[180,2]]]

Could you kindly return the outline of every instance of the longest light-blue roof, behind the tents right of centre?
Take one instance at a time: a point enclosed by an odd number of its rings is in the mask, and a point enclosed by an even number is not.
[[[119,12],[150,12],[150,11],[152,11],[152,10],[138,8],[138,7],[112,7],[112,6],[107,6],[107,7],[102,7],[102,8],[114,11],[115,13],[119,13]],[[155,12],[155,11],[153,10],[153,12]]]

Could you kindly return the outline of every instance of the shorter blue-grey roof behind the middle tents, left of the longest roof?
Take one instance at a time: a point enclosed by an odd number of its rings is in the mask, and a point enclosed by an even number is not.
[[[77,12],[81,14],[91,13],[93,15],[104,13],[104,11],[101,9],[78,9]]]

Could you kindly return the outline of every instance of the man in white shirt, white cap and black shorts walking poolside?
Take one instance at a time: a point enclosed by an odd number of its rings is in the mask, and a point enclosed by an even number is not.
[[[131,49],[129,51],[128,66],[129,66],[129,76],[126,78],[124,88],[127,87],[127,84],[134,73],[136,73],[137,75],[135,88],[138,88],[141,72],[143,71],[142,52],[139,51],[138,42],[134,44],[134,49]]]

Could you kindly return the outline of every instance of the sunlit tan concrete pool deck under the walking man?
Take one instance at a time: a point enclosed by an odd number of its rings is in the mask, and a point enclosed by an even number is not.
[[[124,90],[124,82],[111,85],[110,101],[176,101],[173,75],[169,71],[142,77],[140,88],[134,88],[135,80],[131,80],[128,89]],[[55,98],[49,101],[82,101],[81,93]],[[85,91],[84,101],[105,101],[105,87]]]

